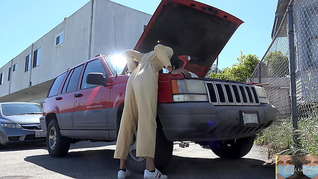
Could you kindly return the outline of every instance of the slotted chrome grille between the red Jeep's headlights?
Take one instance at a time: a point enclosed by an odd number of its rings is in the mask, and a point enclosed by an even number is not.
[[[254,86],[206,81],[209,101],[214,105],[260,105]]]

